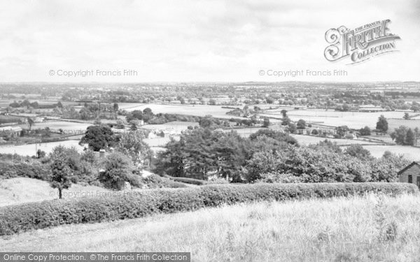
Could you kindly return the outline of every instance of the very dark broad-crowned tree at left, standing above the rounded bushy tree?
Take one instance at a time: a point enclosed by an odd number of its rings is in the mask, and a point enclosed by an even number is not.
[[[87,144],[93,151],[99,151],[115,145],[117,137],[109,126],[88,126],[80,145]]]

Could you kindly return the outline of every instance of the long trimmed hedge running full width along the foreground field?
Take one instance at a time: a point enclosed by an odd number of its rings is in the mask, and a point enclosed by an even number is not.
[[[392,196],[416,193],[406,183],[217,184],[185,189],[149,189],[119,196],[73,198],[0,208],[0,235],[62,224],[132,219],[253,201],[329,198],[369,192]]]

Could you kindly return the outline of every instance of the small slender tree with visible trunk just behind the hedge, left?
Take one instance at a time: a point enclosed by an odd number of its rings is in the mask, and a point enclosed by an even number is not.
[[[54,159],[51,164],[51,170],[50,186],[53,189],[58,189],[58,198],[62,198],[63,189],[69,189],[71,186],[71,170],[69,166],[66,166],[64,159],[61,158]]]

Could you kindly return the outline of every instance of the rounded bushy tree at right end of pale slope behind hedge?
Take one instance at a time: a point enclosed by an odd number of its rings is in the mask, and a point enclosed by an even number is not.
[[[102,166],[104,171],[99,174],[99,181],[109,189],[123,189],[125,181],[134,170],[131,160],[120,152],[106,156],[102,161]]]

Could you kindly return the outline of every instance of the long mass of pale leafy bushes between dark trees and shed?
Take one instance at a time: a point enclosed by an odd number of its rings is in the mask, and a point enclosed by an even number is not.
[[[398,170],[408,164],[395,155],[367,157],[363,147],[358,150],[359,147],[341,152],[335,150],[335,145],[323,143],[257,152],[245,166],[244,178],[248,182],[395,182]]]

